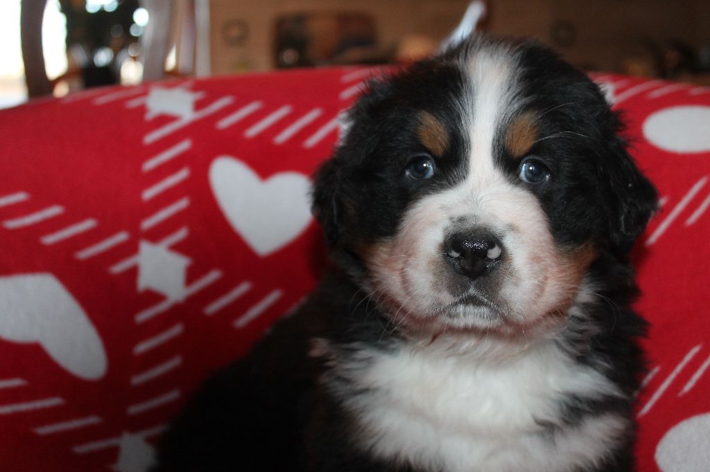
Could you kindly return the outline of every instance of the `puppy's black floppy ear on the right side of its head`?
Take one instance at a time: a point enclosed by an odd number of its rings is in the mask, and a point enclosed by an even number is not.
[[[626,150],[626,142],[616,137],[601,175],[607,181],[607,214],[611,245],[619,252],[630,251],[658,208],[658,195]]]

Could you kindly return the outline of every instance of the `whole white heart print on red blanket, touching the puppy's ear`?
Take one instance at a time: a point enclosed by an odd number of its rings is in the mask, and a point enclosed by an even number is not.
[[[310,223],[310,180],[298,172],[261,180],[239,159],[219,156],[209,167],[209,183],[231,227],[261,257],[288,245]]]

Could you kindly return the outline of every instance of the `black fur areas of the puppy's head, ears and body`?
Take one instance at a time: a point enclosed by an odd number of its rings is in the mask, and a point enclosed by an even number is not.
[[[331,246],[333,269],[296,315],[280,321],[249,357],[192,398],[163,437],[155,472],[430,472],[379,461],[354,446],[354,438],[367,433],[334,392],[367,392],[352,390],[351,378],[331,367],[336,359],[352,361],[358,347],[386,351],[404,342],[403,329],[393,325],[386,308],[361,292],[368,282],[363,252],[395,235],[415,201],[465,179],[470,143],[461,116],[461,62],[497,45],[464,43],[370,84],[349,113],[344,142],[315,174],[314,214]],[[625,394],[569,395],[558,405],[562,421],[541,424],[554,438],[590,416],[612,412],[631,418],[643,371],[635,340],[645,323],[629,308],[637,290],[628,252],[656,208],[656,193],[630,159],[619,137],[620,121],[595,84],[546,47],[516,42],[506,50],[518,58],[523,106],[538,112],[540,135],[559,136],[530,150],[555,171],[550,185],[530,191],[557,245],[596,248],[587,278],[599,297],[578,310],[584,319],[567,320],[557,342],[580,366],[592,366]],[[422,110],[452,131],[437,176],[425,184],[401,177],[408,159],[427,152],[415,137],[414,118]],[[518,164],[502,136],[496,143],[496,163],[517,185]],[[325,352],[309,356],[310,349],[320,349],[312,339],[327,339]],[[596,468],[570,470],[631,471],[633,436],[630,429]]]

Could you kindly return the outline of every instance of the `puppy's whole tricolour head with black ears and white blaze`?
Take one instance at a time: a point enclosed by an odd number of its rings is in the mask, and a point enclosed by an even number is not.
[[[471,40],[373,84],[348,120],[315,211],[404,329],[556,325],[655,208],[599,89],[537,45]]]

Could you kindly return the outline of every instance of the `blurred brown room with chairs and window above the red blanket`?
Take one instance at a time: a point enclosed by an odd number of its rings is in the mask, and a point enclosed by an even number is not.
[[[407,63],[469,0],[0,0],[0,108],[108,84]],[[582,69],[710,84],[708,0],[481,0]]]

